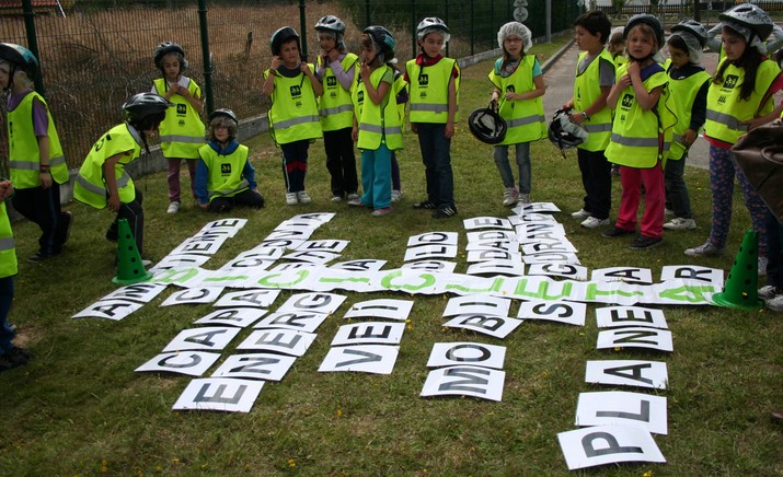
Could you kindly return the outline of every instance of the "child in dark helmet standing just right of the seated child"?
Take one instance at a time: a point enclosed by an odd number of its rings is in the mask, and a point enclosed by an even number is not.
[[[283,151],[286,203],[310,203],[304,191],[310,141],[321,138],[318,96],[323,88],[313,65],[301,60],[299,34],[284,26],[272,35],[272,65],[264,71],[264,94],[272,96],[269,132]]]

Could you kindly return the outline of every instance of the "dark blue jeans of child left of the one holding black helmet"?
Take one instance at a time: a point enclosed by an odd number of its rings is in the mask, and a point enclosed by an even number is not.
[[[418,146],[422,149],[427,199],[440,207],[454,205],[454,175],[451,171],[451,139],[444,136],[445,124],[419,123]]]

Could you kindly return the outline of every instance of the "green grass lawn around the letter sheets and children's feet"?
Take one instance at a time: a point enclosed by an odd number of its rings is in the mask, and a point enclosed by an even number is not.
[[[486,103],[490,68],[484,62],[463,71],[465,114]],[[491,148],[475,141],[464,123],[452,142],[459,218],[435,221],[427,212],[412,210],[410,206],[424,198],[424,177],[416,138],[408,133],[405,141],[400,153],[405,197],[382,219],[329,200],[321,142],[310,149],[308,190],[313,205],[285,206],[278,150],[267,136],[249,141],[267,207],[232,213],[250,221],[207,267],[219,267],[255,246],[283,220],[304,211],[337,212],[313,238],[349,240],[342,259],[382,258],[389,260],[387,268],[402,265],[411,235],[458,231],[464,247],[462,219],[508,213],[500,206],[502,185]],[[664,246],[633,253],[626,241],[604,240],[598,231],[580,230],[567,217],[580,207],[583,197],[573,153],[564,160],[542,141],[533,144],[532,160],[534,200],[553,201],[563,210],[559,219],[590,269],[633,265],[652,268],[657,278],[667,264],[730,267],[733,256],[696,260],[682,255],[707,234],[705,172],[687,173],[700,229],[667,233]],[[141,178],[137,185],[145,191],[146,255],[152,259],[162,258],[215,219],[188,202],[177,216],[166,216],[164,173]],[[619,194],[615,184],[615,207]],[[607,466],[585,474],[783,473],[781,428],[768,419],[770,410],[783,406],[783,321],[765,311],[667,306],[675,352],[599,351],[596,305],[589,305],[584,328],[528,322],[500,341],[442,329],[445,295],[344,293],[348,299],[319,328],[314,345],[281,382],[264,386],[249,415],[173,411],[189,377],[141,374],[134,369],[210,306],[160,307],[170,293],[166,290],[122,322],[71,319],[116,289],[111,283],[116,248],[103,240],[112,213],[81,205],[68,208],[77,222],[67,252],[42,265],[24,260],[35,251],[37,230],[28,223],[14,225],[22,260],[11,321],[19,326],[20,342],[35,358],[24,368],[0,374],[0,475],[565,475],[556,434],[575,429],[580,392],[604,388],[584,382],[585,362],[612,358],[667,362],[670,387],[661,395],[668,398],[669,434],[655,440],[668,464]],[[749,225],[739,198],[735,211],[729,251],[736,251]],[[457,271],[464,272],[461,256],[458,261]],[[284,291],[274,306],[291,293]],[[318,373],[343,314],[353,303],[376,298],[415,301],[394,372],[388,376]],[[514,304],[513,314],[518,306]],[[249,333],[242,331],[224,354]],[[433,345],[458,340],[507,347],[502,403],[418,397]]]

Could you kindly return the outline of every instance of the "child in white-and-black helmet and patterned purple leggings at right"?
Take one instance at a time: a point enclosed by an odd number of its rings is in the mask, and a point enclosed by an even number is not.
[[[772,21],[760,8],[744,3],[722,13],[724,59],[710,82],[704,138],[710,143],[712,229],[702,245],[686,249],[691,257],[721,255],[732,220],[734,177],[745,195],[753,229],[759,234],[759,272],[767,265],[767,207],[737,167],[729,149],[747,130],[780,117],[771,96],[781,90],[780,68],[762,56]],[[773,110],[774,109],[774,110]]]

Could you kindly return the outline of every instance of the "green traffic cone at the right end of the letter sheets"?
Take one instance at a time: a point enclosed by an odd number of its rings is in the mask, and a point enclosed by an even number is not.
[[[730,309],[758,310],[763,306],[759,300],[759,234],[753,230],[745,232],[742,244],[728,272],[721,293],[712,295],[715,304]]]

